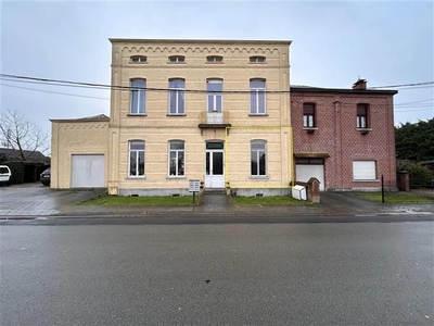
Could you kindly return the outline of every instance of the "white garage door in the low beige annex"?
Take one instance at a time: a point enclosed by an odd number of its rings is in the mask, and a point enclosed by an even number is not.
[[[104,155],[73,155],[71,187],[104,187]]]

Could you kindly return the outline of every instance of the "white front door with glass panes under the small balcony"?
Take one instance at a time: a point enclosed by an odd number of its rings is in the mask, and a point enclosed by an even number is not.
[[[206,143],[205,188],[225,188],[225,152],[222,142]]]

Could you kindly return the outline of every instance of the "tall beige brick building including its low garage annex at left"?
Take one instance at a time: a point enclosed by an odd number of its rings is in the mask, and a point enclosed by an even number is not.
[[[111,42],[110,120],[52,121],[52,188],[289,192],[290,41]]]

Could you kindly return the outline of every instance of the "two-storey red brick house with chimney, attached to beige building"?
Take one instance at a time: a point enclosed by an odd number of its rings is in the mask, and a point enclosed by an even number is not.
[[[396,90],[291,86],[295,179],[321,190],[396,190],[393,96]]]

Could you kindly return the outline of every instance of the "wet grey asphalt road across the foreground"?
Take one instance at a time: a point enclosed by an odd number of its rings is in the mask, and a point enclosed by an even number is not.
[[[0,325],[434,321],[433,222],[26,223],[0,224]]]

